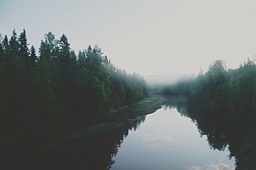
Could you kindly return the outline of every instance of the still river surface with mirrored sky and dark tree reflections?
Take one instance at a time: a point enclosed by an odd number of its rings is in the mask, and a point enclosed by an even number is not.
[[[129,117],[81,129],[42,150],[9,151],[2,162],[9,169],[235,169],[227,147],[239,153],[238,131],[220,118],[189,109],[182,99],[172,97],[150,115],[125,115]]]

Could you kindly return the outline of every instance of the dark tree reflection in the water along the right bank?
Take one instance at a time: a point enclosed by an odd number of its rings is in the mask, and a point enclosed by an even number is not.
[[[176,108],[182,117],[191,118],[198,128],[200,136],[206,136],[213,150],[223,151],[228,148],[229,158],[236,160],[236,169],[256,169],[256,137],[255,133],[247,132],[241,125],[228,122],[220,117],[223,114],[205,114],[198,103],[172,101],[164,104],[164,108]],[[185,102],[184,102],[185,101]],[[253,128],[253,127],[252,127]]]

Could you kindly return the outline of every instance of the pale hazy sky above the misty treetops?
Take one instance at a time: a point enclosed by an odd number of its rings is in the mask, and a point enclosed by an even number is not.
[[[118,67],[145,76],[197,74],[216,59],[238,67],[256,54],[254,0],[0,0],[0,32],[65,33],[78,52],[99,45]]]

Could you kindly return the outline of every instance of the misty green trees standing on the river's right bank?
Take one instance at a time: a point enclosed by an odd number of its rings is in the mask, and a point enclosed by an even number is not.
[[[209,113],[247,123],[256,114],[256,65],[248,59],[237,69],[227,69],[223,60],[216,60],[206,73],[165,86],[160,93],[186,95]]]

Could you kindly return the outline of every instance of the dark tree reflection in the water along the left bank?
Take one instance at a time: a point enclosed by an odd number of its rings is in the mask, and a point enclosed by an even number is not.
[[[56,146],[34,150],[24,146],[19,150],[6,152],[1,167],[4,169],[109,169],[114,163],[121,143],[129,130],[138,129],[145,121],[145,115],[122,122],[118,128],[96,129],[86,135],[74,134],[79,138],[63,140]],[[113,122],[115,124],[115,122]],[[104,128],[104,127],[103,127]]]

